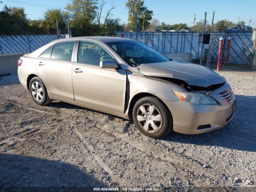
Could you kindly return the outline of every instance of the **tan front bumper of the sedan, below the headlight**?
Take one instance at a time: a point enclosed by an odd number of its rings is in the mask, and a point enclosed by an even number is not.
[[[227,126],[236,107],[235,98],[226,106],[162,101],[172,114],[173,130],[183,134],[201,134]]]

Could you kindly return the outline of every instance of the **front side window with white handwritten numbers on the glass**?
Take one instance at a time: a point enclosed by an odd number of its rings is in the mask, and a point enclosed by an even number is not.
[[[78,63],[100,66],[102,60],[113,60],[103,48],[90,42],[80,42],[78,47]]]

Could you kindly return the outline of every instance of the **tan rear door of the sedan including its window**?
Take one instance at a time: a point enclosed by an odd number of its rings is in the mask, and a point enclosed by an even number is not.
[[[48,48],[37,60],[36,71],[48,92],[74,100],[72,86],[72,54],[75,41],[59,42]]]

